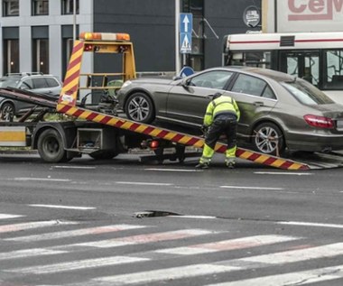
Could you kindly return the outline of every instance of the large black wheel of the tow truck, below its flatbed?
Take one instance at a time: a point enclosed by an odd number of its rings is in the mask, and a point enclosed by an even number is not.
[[[67,152],[64,150],[63,140],[54,129],[47,129],[38,138],[38,152],[44,161],[68,161]]]

